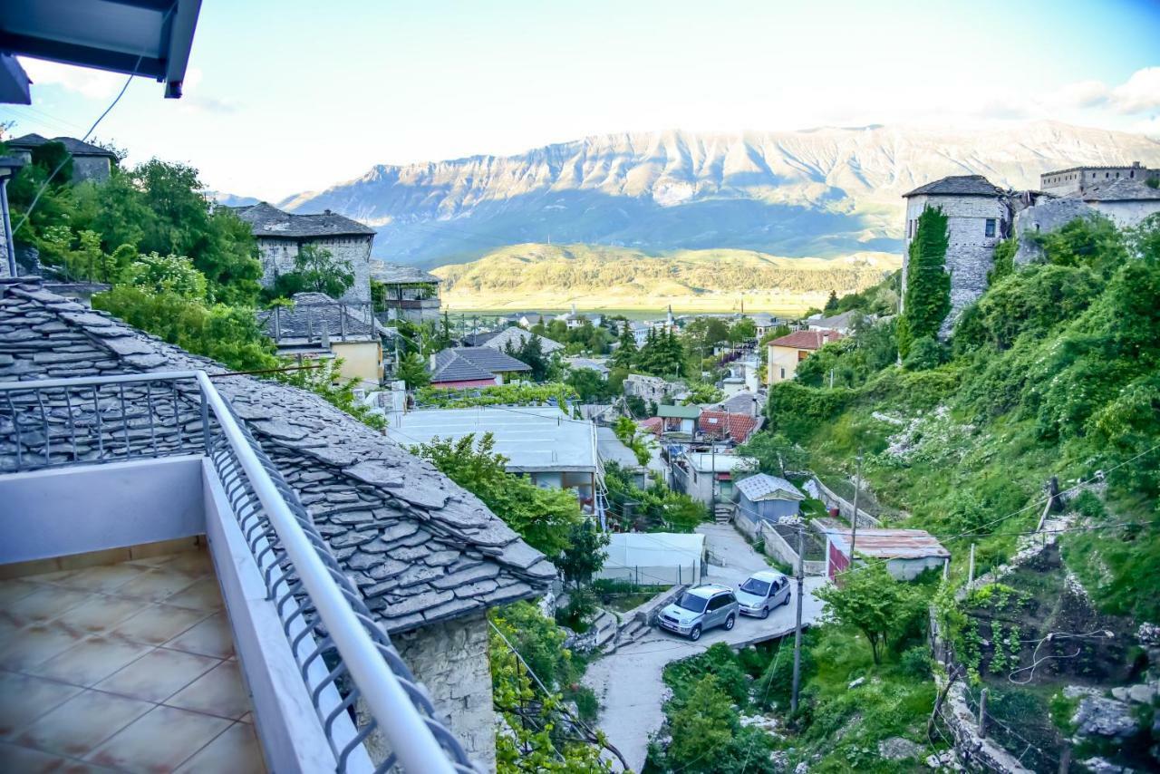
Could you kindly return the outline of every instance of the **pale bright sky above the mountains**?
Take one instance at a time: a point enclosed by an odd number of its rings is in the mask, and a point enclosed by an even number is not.
[[[184,96],[94,137],[278,201],[376,164],[621,131],[1051,118],[1160,138],[1160,0],[204,0]],[[14,135],[81,137],[125,77],[24,59]]]

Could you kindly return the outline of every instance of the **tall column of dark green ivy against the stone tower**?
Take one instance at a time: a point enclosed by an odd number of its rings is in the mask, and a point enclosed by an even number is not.
[[[928,207],[919,216],[918,231],[911,241],[906,297],[898,325],[898,352],[902,357],[913,342],[937,337],[938,327],[950,312],[947,245],[947,214],[942,208]]]

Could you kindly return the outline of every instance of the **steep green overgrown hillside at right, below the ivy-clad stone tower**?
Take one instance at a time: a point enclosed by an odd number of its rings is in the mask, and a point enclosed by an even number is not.
[[[1155,766],[1150,702],[1114,708],[1125,718],[1116,737],[1085,731],[1076,708],[1088,695],[1112,702],[1112,688],[1160,670],[1146,634],[1160,620],[1160,216],[1126,231],[1076,220],[1037,240],[1044,259],[999,261],[949,341],[930,334],[941,321],[930,310],[943,304],[912,285],[911,317],[858,324],[770,390],[767,427],[751,442],[763,466],[792,461],[851,492],[861,454],[861,502],[885,526],[930,531],[952,554],[947,581],[893,581],[871,562],[825,592],[833,619],[806,638],[803,704],[791,716],[778,702],[782,725],[767,745],[781,771],[799,761],[818,772],[916,771],[945,748],[949,731],[928,729],[938,668],[928,656],[930,605],[965,667],[966,695],[989,690],[991,736],[1023,765],[1057,771],[1067,751],[1072,766],[1090,768],[1095,757]],[[879,290],[840,303],[876,311]],[[1052,479],[1053,526],[1032,540]],[[1012,574],[956,596],[972,545],[979,577],[1051,540]],[[733,702],[753,712],[789,679],[784,654],[781,666],[766,667],[768,658],[742,652],[737,666],[706,665],[697,677],[748,668],[759,681]],[[699,706],[726,701],[728,685],[717,680],[698,683]],[[771,687],[759,690],[761,680]],[[670,724],[689,721],[682,699]],[[723,718],[709,729],[723,744],[749,733],[735,714]],[[665,755],[668,766],[687,764],[672,748]]]

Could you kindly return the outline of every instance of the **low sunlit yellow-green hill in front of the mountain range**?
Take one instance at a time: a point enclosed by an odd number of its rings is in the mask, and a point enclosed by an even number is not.
[[[831,292],[868,288],[901,263],[898,255],[780,258],[744,249],[653,254],[597,245],[514,245],[470,263],[443,266],[452,310],[665,309],[799,313]]]

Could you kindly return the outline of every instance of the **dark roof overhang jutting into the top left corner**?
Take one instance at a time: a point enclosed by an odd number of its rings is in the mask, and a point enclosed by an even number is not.
[[[180,97],[201,7],[201,0],[5,0],[0,51],[147,75],[165,84],[166,97]]]

